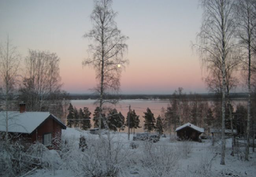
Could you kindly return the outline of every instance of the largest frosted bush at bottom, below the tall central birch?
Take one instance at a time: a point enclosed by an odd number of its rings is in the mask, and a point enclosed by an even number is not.
[[[63,155],[60,168],[72,170],[76,175],[117,176],[130,162],[129,146],[125,146],[119,135],[99,139],[88,136],[86,143],[84,151],[74,147]]]

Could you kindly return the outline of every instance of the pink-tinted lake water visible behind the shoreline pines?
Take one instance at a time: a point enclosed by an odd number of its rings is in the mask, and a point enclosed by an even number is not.
[[[83,107],[88,107],[89,111],[92,113],[91,118],[93,118],[93,112],[95,108],[99,104],[95,104],[96,100],[71,100],[71,103],[74,107],[77,109],[80,109]],[[208,105],[213,105],[213,101],[203,101],[205,103],[208,103]],[[236,108],[236,105],[243,104],[245,105],[246,101],[244,100],[234,100],[232,101],[232,105],[234,106],[234,109]],[[121,111],[122,115],[126,118],[127,112],[129,111],[129,105],[131,105],[131,110],[135,110],[136,114],[139,116],[140,119],[140,126],[141,128],[135,129],[135,132],[144,132],[144,112],[146,112],[147,107],[150,108],[151,112],[154,114],[154,117],[157,118],[158,115],[161,115],[161,108],[163,107],[165,110],[170,104],[170,100],[121,100],[117,105],[106,105],[111,108],[116,108],[117,111]],[[126,120],[126,119],[125,119]],[[91,119],[91,124],[93,128],[93,120]],[[128,131],[127,127],[124,130],[125,132]]]

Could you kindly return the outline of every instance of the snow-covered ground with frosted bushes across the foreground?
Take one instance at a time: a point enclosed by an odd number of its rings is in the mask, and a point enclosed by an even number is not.
[[[239,147],[234,157],[231,153],[231,139],[226,140],[225,165],[221,165],[221,149],[218,142],[170,141],[160,138],[156,143],[133,141],[126,133],[108,132],[99,139],[89,131],[67,128],[63,130],[66,151],[52,152],[55,166],[33,171],[30,177],[100,176],[104,174],[124,177],[141,176],[256,176],[256,153],[250,151],[249,161],[244,161],[244,149]],[[79,149],[79,138],[85,136],[87,149]],[[67,143],[68,142],[68,143]],[[132,149],[135,143],[137,148]],[[111,144],[111,149],[109,149]],[[252,150],[252,149],[250,149]],[[109,153],[110,152],[110,153]],[[111,154],[111,155],[109,155]],[[109,159],[111,157],[111,159]],[[109,164],[108,162],[111,162]],[[106,173],[106,171],[109,171]],[[104,171],[105,170],[105,171]]]

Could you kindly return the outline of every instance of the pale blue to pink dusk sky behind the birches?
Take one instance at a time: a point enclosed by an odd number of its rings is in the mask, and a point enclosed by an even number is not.
[[[28,49],[60,57],[63,89],[90,93],[95,70],[82,67],[89,56],[93,0],[0,0],[0,44],[7,34],[25,58]],[[113,0],[115,21],[129,37],[129,59],[121,76],[123,94],[207,92],[199,57],[191,49],[200,30],[202,9],[197,0]]]

